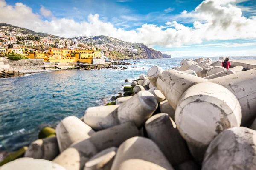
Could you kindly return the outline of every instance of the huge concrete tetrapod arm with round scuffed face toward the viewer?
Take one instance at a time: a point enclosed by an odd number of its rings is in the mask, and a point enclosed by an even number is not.
[[[221,85],[204,82],[187,89],[175,111],[175,123],[201,163],[209,143],[230,127],[239,127],[241,107],[236,96]]]

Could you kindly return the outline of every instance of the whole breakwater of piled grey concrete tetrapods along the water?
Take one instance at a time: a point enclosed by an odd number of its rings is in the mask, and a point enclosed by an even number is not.
[[[48,133],[23,148],[26,157],[57,156],[53,162],[17,161],[67,170],[253,170],[256,69],[236,66],[226,74],[219,64],[200,58],[184,59],[174,69],[153,66],[124,88],[131,96],[116,99],[116,105],[87,108],[81,119],[66,117],[56,137]]]

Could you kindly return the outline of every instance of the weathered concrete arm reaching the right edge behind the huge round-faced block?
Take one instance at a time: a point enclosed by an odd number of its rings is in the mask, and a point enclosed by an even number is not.
[[[241,126],[256,117],[256,68],[210,79],[229,89],[238,99],[242,109]]]

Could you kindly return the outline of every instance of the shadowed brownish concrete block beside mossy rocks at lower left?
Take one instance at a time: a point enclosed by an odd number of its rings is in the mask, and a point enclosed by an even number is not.
[[[32,142],[24,157],[52,161],[59,153],[57,137],[50,137]]]

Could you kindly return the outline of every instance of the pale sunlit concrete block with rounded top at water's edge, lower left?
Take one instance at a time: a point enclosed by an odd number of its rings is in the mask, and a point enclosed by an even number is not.
[[[74,142],[90,137],[94,130],[75,116],[61,120],[56,128],[56,136],[60,152],[64,151]]]

